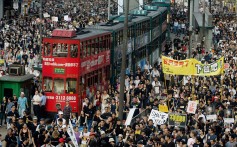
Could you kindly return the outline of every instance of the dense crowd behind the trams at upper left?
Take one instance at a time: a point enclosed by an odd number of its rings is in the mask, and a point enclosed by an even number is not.
[[[40,24],[42,37],[51,36],[56,28],[78,30],[107,21],[107,5],[107,1],[99,0],[45,0],[42,13],[47,15],[42,20],[39,19],[39,1],[32,2],[26,10],[21,10],[23,8],[19,6],[18,10],[7,11],[0,20],[0,59],[5,61],[4,65],[0,65],[1,70],[7,72],[9,65],[22,64],[25,65],[26,74],[32,74],[32,67],[40,62]],[[111,11],[117,9],[114,1],[111,1],[111,8]],[[19,14],[19,11],[22,13]],[[64,20],[65,15],[70,21]],[[58,17],[58,21],[52,21],[53,16]]]

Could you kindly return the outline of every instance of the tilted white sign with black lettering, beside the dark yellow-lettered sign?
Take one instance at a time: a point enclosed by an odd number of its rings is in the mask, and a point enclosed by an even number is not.
[[[154,109],[151,110],[151,114],[149,116],[149,120],[152,119],[155,126],[166,123],[167,118],[168,118],[168,114],[154,110]]]

